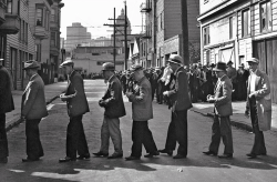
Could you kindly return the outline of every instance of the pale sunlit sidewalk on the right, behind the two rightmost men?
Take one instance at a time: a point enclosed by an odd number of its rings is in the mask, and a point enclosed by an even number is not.
[[[232,125],[252,131],[250,119],[245,118],[245,101],[243,102],[232,102],[233,115],[230,115]],[[214,115],[214,104],[213,103],[193,103],[191,109],[194,112],[201,113],[203,115],[213,117]],[[277,104],[273,103],[273,120],[271,120],[271,131],[277,132]]]

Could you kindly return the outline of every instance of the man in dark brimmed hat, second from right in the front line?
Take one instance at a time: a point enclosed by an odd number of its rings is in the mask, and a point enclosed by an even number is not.
[[[217,62],[216,68],[213,69],[215,71],[216,77],[218,78],[215,94],[207,95],[207,101],[214,103],[214,123],[213,123],[213,134],[212,142],[209,144],[208,151],[203,152],[207,155],[217,155],[218,148],[220,144],[220,139],[223,139],[223,143],[225,145],[223,155],[218,155],[218,158],[233,158],[233,138],[232,138],[232,128],[229,115],[233,114],[232,109],[232,90],[233,85],[230,79],[226,74],[226,63]]]

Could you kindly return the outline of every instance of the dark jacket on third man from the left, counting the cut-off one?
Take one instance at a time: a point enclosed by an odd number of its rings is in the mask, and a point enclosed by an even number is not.
[[[75,70],[70,74],[68,89],[65,95],[76,95],[66,101],[69,117],[82,115],[90,112],[86,95],[84,93],[83,78]]]

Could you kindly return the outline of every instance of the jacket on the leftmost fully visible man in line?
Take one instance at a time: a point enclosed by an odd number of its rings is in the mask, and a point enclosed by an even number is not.
[[[23,92],[21,115],[27,120],[42,119],[48,115],[44,82],[39,74],[31,78]]]

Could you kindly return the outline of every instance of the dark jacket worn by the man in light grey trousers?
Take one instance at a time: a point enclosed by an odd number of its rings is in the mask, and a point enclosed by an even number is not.
[[[121,82],[115,75],[112,75],[112,78],[109,80],[109,87],[102,100],[103,107],[105,108],[105,117],[121,118],[126,114],[122,99]]]

